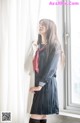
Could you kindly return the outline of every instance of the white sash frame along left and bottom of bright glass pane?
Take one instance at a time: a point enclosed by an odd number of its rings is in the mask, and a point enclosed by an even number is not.
[[[65,0],[63,0],[65,1]],[[69,0],[66,0],[69,2]],[[63,40],[65,51],[65,69],[64,69],[64,110],[80,114],[80,105],[71,102],[71,28],[70,28],[70,6],[63,6]]]

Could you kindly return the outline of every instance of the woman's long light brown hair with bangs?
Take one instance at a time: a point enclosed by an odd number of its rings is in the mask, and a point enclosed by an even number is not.
[[[54,49],[55,50],[57,49],[58,51],[61,52],[61,57],[62,57],[61,60],[63,61],[63,55],[62,55],[63,50],[58,40],[56,24],[52,20],[49,20],[49,19],[41,19],[39,23],[42,23],[44,26],[47,27],[47,32],[46,32],[47,58],[49,57],[50,53],[54,51]],[[42,42],[42,37],[40,34],[38,34],[37,44],[41,44],[41,42]]]

